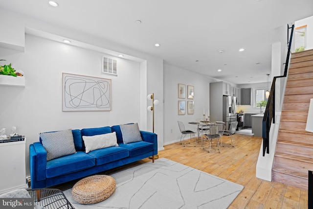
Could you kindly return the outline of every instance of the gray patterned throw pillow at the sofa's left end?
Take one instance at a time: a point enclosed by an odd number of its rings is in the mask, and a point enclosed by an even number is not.
[[[40,133],[40,138],[47,151],[47,161],[76,152],[71,129]]]

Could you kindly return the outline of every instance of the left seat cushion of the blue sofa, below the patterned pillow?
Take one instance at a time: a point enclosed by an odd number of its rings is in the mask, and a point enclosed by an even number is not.
[[[92,156],[83,151],[63,156],[47,162],[45,175],[47,178],[61,176],[67,173],[84,170],[95,165]]]

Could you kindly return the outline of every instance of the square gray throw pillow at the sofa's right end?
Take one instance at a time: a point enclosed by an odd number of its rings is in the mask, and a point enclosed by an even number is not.
[[[138,123],[120,125],[124,144],[142,141]]]

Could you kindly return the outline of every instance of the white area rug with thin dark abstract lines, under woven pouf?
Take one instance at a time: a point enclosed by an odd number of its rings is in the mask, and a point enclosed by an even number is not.
[[[227,209],[244,186],[192,167],[157,159],[111,175],[116,190],[108,199],[76,209]]]

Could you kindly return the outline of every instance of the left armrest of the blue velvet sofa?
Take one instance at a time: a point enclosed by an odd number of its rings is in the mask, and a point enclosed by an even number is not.
[[[45,180],[45,168],[47,152],[40,142],[34,142],[29,146],[30,175],[35,181]]]

